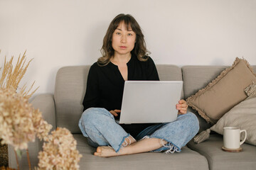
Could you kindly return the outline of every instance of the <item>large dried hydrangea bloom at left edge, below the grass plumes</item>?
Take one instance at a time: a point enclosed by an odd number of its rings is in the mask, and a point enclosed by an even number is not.
[[[27,149],[28,142],[46,137],[50,128],[41,113],[35,110],[28,98],[16,93],[15,89],[0,87],[0,137],[2,144],[14,146],[14,149]]]

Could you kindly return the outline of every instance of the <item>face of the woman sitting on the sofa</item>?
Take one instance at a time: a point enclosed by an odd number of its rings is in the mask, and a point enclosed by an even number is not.
[[[114,55],[127,55],[134,49],[136,33],[122,21],[112,35]]]

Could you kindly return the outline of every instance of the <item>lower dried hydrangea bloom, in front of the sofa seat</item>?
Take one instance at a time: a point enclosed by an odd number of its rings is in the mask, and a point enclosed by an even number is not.
[[[76,149],[77,142],[66,128],[57,128],[48,135],[39,152],[39,169],[79,169],[81,154]]]

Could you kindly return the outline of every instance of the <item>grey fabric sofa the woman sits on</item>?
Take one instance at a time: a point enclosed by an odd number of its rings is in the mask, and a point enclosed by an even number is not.
[[[183,98],[188,98],[199,89],[206,86],[218,76],[226,67],[224,66],[183,66],[157,65],[161,80],[183,80]],[[58,70],[55,79],[54,94],[40,94],[32,103],[40,108],[43,117],[53,128],[68,128],[77,140],[77,148],[82,154],[80,169],[256,169],[256,147],[243,144],[243,152],[223,152],[223,137],[211,134],[210,139],[195,144],[192,140],[180,153],[142,153],[121,157],[102,158],[95,157],[95,148],[90,147],[78,128],[78,120],[82,114],[82,99],[85,95],[87,72],[90,66],[63,67]],[[256,66],[253,66],[256,72]],[[198,116],[200,131],[206,130],[210,125],[206,123],[195,111],[188,108]],[[37,155],[42,143],[38,140],[29,144],[32,166],[38,163]],[[26,154],[20,161],[21,169],[28,169]],[[16,167],[16,159],[12,147],[9,147],[9,166]]]

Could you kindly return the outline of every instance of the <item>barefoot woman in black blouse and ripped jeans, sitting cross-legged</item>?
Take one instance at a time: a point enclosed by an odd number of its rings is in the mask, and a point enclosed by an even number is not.
[[[115,122],[119,119],[124,81],[159,81],[156,66],[147,53],[137,21],[130,15],[116,16],[103,40],[103,57],[90,67],[84,113],[79,121],[88,143],[97,147],[96,156],[181,152],[181,147],[198,132],[196,115],[186,113],[188,105],[184,100],[178,101],[178,118],[172,123],[119,125]]]

